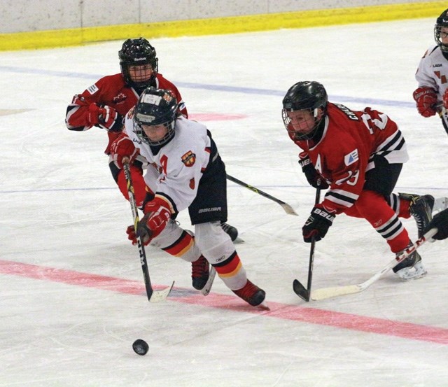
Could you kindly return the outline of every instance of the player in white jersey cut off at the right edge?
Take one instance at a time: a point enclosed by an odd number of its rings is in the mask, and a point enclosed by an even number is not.
[[[440,115],[448,133],[448,9],[437,17],[432,45],[420,60],[415,78],[419,87],[414,91],[417,110],[423,117]]]

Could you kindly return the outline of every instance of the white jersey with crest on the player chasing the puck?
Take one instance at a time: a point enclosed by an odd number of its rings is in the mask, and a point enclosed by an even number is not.
[[[158,167],[158,176],[154,175],[157,169],[148,167],[145,175],[148,187],[171,204],[172,213],[187,209],[196,197],[202,172],[210,159],[211,139],[207,127],[183,117],[177,118],[174,138],[156,155],[135,134],[129,114],[125,120],[125,131],[140,154]]]

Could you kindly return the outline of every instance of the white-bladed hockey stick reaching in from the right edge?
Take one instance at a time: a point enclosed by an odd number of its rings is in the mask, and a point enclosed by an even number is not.
[[[409,255],[414,253],[417,248],[419,248],[422,244],[424,244],[426,241],[431,239],[433,235],[437,233],[437,229],[433,228],[426,232],[426,234],[423,235],[420,239],[417,239],[412,246],[409,246],[401,255],[399,255],[397,258],[394,258],[389,262],[386,266],[384,266],[379,272],[374,274],[370,277],[370,279],[367,279],[367,281],[364,281],[362,283],[358,283],[357,285],[346,285],[346,286],[334,286],[332,288],[321,288],[316,289],[311,293],[311,300],[325,300],[326,298],[331,297],[337,297],[339,295],[351,295],[354,293],[360,293],[363,292],[365,289],[367,289],[369,286],[372,285],[372,283],[378,281],[383,274],[388,272],[390,269],[398,265],[400,262],[405,260]]]

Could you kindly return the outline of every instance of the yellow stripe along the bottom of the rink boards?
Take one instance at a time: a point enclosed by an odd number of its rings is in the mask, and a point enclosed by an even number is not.
[[[213,19],[119,24],[102,27],[57,29],[0,34],[0,50],[64,47],[100,41],[145,38],[235,34],[283,28],[322,27],[337,24],[385,22],[437,17],[448,7],[446,1],[398,3],[386,6],[328,8],[287,13],[269,13]]]

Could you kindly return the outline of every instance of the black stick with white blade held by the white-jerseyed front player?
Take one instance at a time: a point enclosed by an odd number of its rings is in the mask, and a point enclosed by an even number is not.
[[[129,202],[131,204],[131,210],[132,210],[132,218],[134,220],[134,227],[137,234],[137,246],[139,246],[140,263],[141,263],[141,270],[143,271],[143,278],[145,280],[146,295],[148,296],[149,302],[165,301],[167,300],[169,292],[171,292],[174,286],[174,281],[172,283],[172,286],[169,286],[168,288],[162,290],[154,290],[153,286],[151,286],[151,279],[149,278],[149,272],[148,272],[148,262],[146,261],[145,246],[142,243],[139,234],[137,233],[137,225],[140,220],[139,220],[139,213],[137,211],[137,204],[135,202],[134,185],[132,184],[129,159],[127,157],[123,157],[123,168],[125,169],[127,194],[129,195]]]

